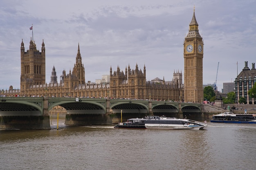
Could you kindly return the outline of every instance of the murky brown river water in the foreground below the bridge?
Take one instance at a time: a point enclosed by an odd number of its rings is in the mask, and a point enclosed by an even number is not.
[[[1,170],[254,170],[256,124],[205,130],[67,127],[0,130]]]

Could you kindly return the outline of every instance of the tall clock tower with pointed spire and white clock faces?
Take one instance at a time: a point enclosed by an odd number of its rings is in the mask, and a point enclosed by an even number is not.
[[[195,7],[184,40],[184,102],[202,102],[204,44],[195,19]]]

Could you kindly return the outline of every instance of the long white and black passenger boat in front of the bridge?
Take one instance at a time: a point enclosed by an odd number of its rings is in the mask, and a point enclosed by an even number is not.
[[[175,117],[147,116],[145,118],[131,118],[127,122],[119,123],[114,128],[147,128],[147,129],[203,129],[207,124],[190,119]]]

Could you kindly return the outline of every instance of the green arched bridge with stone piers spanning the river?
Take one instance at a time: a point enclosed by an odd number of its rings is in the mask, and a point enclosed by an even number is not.
[[[73,97],[0,97],[0,129],[49,129],[49,110],[67,111],[67,125],[107,125],[113,120],[166,115],[205,119],[202,104],[136,99]],[[122,120],[121,120],[122,117]]]

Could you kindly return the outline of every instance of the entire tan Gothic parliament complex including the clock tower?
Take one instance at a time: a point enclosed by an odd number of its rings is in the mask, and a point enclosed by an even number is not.
[[[41,52],[35,42],[30,40],[29,49],[25,51],[23,40],[20,47],[21,75],[20,90],[2,91],[7,96],[49,96],[49,97],[108,97],[121,99],[152,99],[162,101],[201,102],[203,98],[202,59],[203,40],[198,31],[195,10],[189,24],[189,33],[184,38],[184,84],[182,72],[174,71],[173,80],[165,81],[158,77],[147,81],[146,66],[143,70],[119,66],[106,75],[101,81],[85,82],[85,68],[82,63],[80,47],[75,64],[69,72],[63,70],[60,82],[57,81],[55,67],[52,68],[51,81],[45,82],[45,44],[42,42]],[[14,93],[13,93],[14,91]]]

